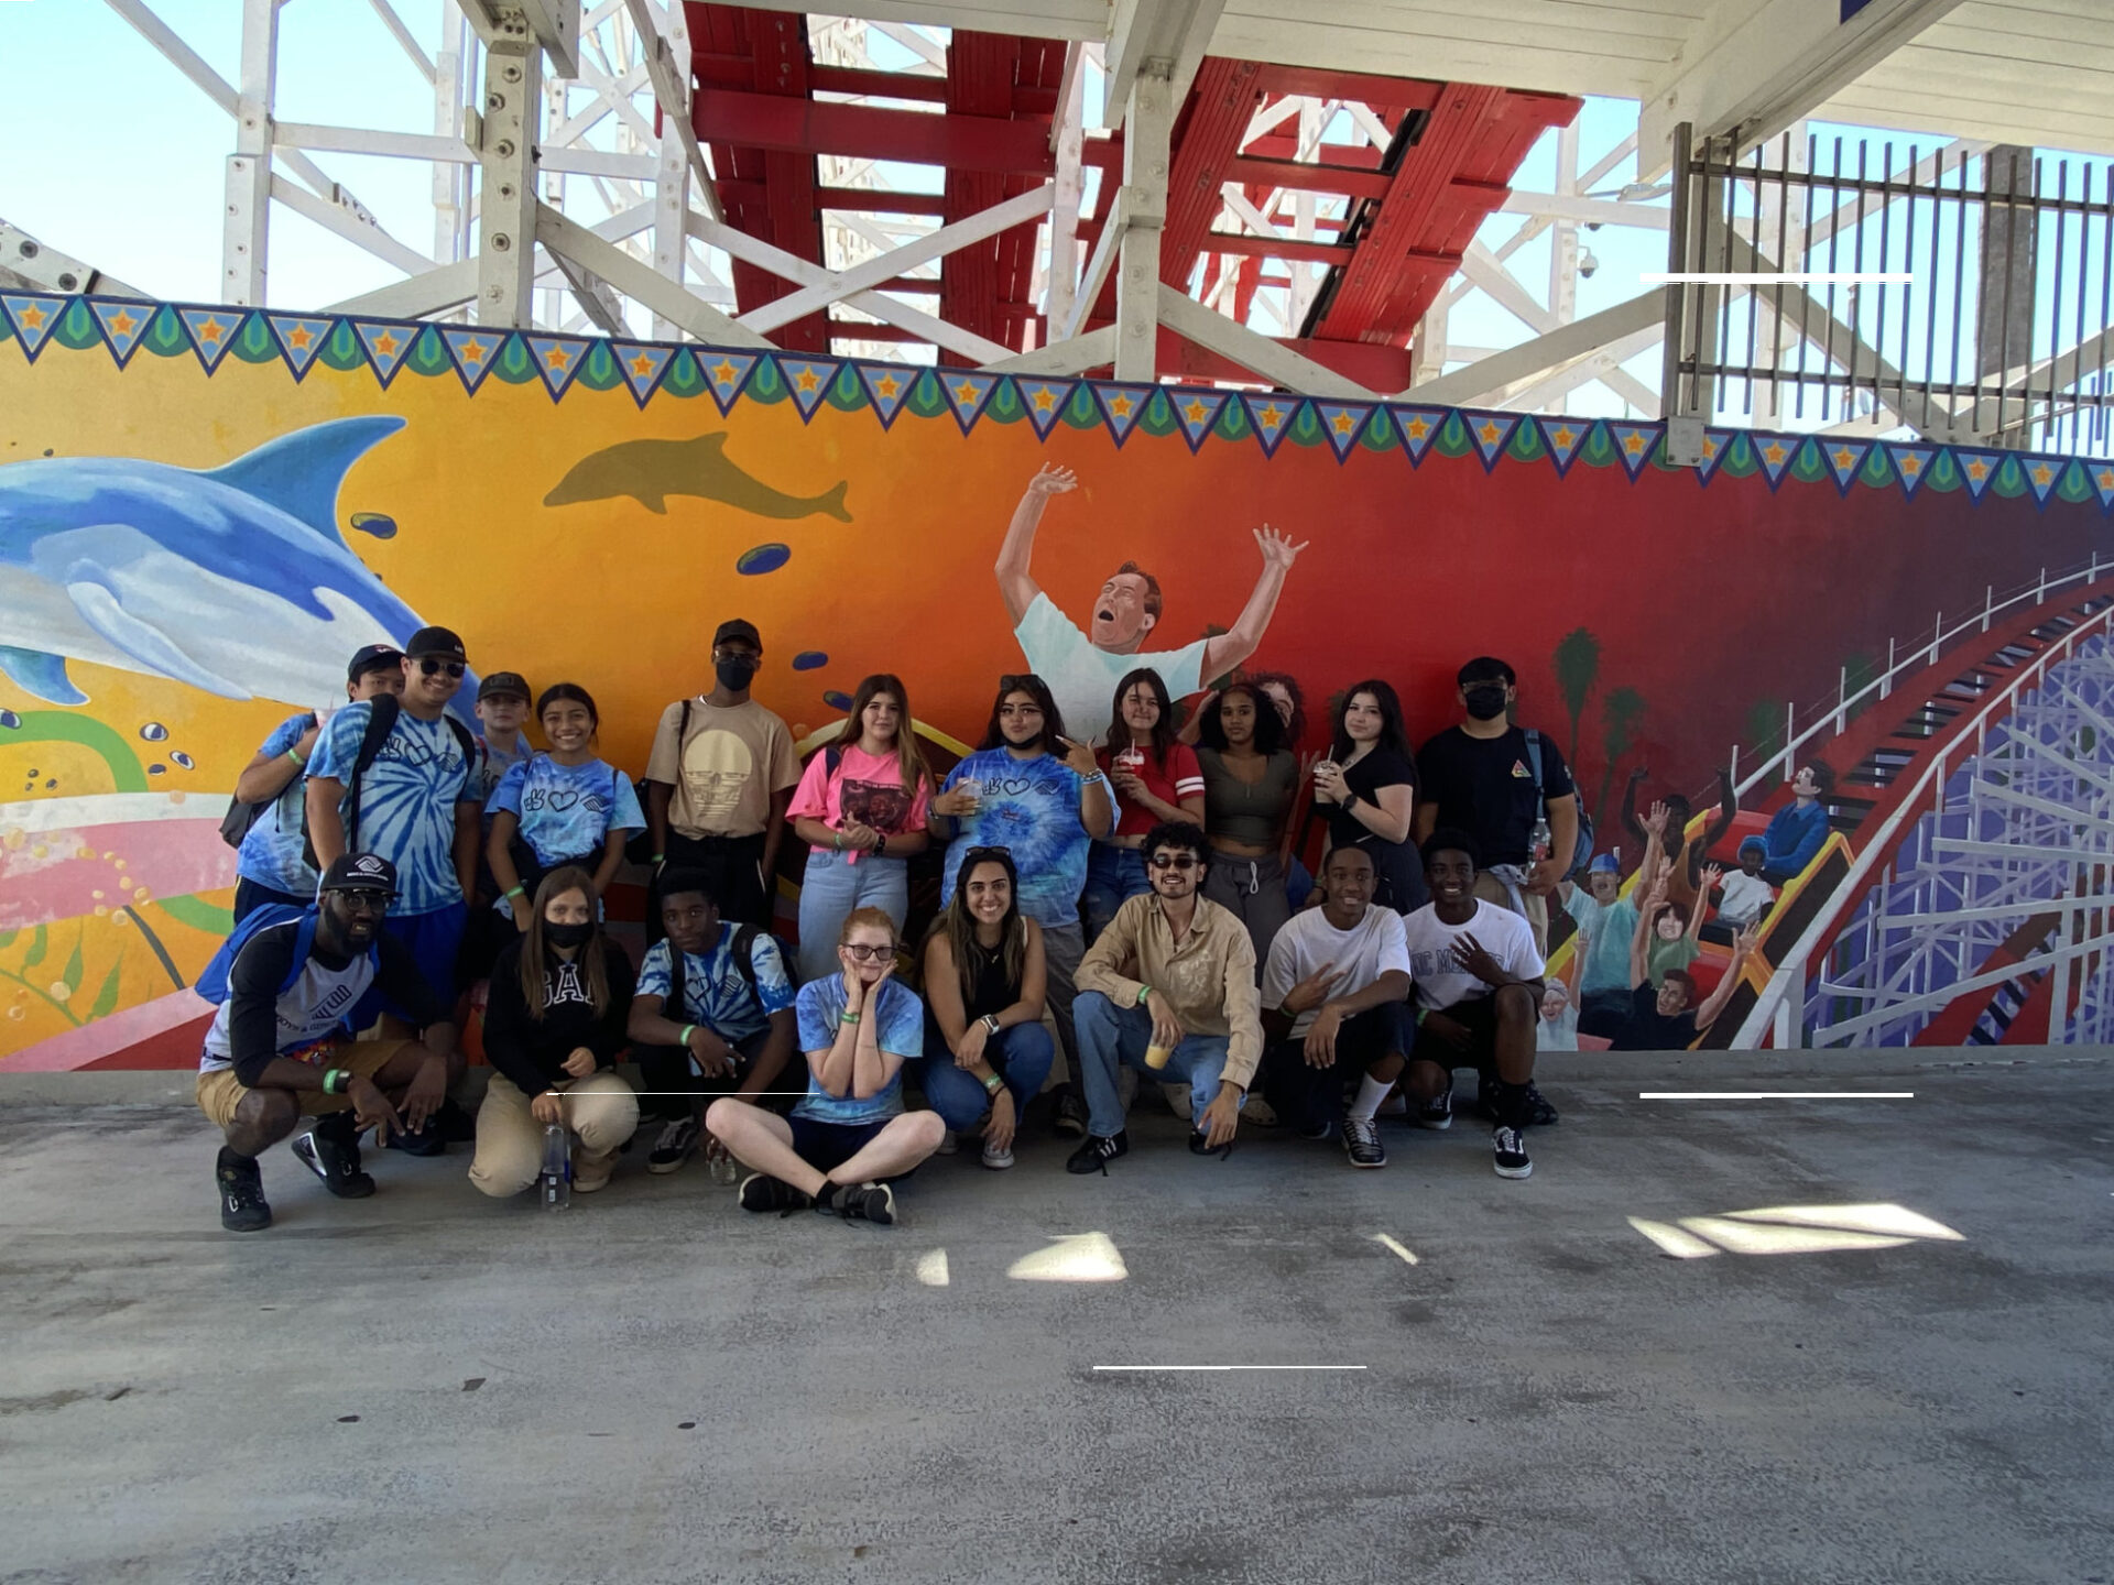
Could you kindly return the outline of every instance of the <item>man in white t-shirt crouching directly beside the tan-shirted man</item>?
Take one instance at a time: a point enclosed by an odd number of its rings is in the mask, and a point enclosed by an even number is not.
[[[1321,864],[1321,907],[1292,915],[1262,966],[1262,1027],[1277,1042],[1264,1097],[1302,1139],[1342,1124],[1353,1167],[1387,1167],[1380,1101],[1410,1050],[1410,951],[1402,915],[1372,900],[1372,852],[1332,847]],[[1342,1093],[1357,1076],[1345,1114]]]

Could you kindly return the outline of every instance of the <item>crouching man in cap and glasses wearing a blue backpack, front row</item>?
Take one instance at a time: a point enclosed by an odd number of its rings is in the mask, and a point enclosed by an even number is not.
[[[463,1076],[448,1008],[410,949],[383,934],[391,896],[395,864],[340,854],[313,907],[252,911],[199,976],[201,991],[226,983],[199,1059],[199,1110],[226,1133],[214,1177],[228,1232],[271,1226],[258,1156],[304,1116],[317,1122],[294,1156],[340,1200],[364,1200],[374,1179],[359,1171],[359,1131],[425,1126]],[[349,1019],[370,989],[416,1021],[419,1040],[353,1040]]]

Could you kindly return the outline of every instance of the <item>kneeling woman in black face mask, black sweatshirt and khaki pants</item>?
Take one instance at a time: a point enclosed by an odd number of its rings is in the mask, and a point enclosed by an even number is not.
[[[564,864],[535,890],[528,930],[499,951],[484,1008],[493,1082],[478,1107],[469,1181],[520,1194],[543,1167],[543,1131],[579,1135],[573,1188],[609,1183],[638,1129],[638,1095],[615,1071],[632,1006],[632,962],[596,924],[594,877]]]

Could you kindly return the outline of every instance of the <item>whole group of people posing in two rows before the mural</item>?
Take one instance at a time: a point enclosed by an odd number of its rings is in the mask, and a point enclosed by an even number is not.
[[[664,710],[643,790],[596,759],[577,685],[535,700],[541,752],[514,672],[478,687],[480,733],[457,723],[467,653],[444,628],[361,649],[345,708],[264,742],[237,786],[256,812],[237,930],[201,978],[224,997],[199,1101],[226,1135],[226,1228],[268,1226],[256,1158],[302,1118],[296,1158],[347,1198],[374,1190],[366,1129],[414,1154],[474,1141],[471,1181],[505,1196],[535,1181],[548,1126],[594,1192],[653,1120],[653,1173],[704,1143],[748,1169],[746,1209],[886,1224],[890,1186],[962,1135],[1010,1167],[1032,1110],[1082,1135],[1070,1171],[1106,1173],[1129,1152],[1125,1069],[1167,1086],[1197,1154],[1245,1118],[1383,1167],[1383,1105],[1446,1129],[1452,1074],[1476,1067],[1497,1173],[1531,1173],[1526,1129],[1556,1120],[1533,1086],[1547,898],[1573,919],[1630,905],[1598,866],[1571,888],[1571,776],[1509,721],[1503,661],[1461,670],[1463,723],[1416,752],[1393,687],[1353,685],[1304,763],[1285,676],[1205,695],[1177,731],[1161,676],[1135,670],[1099,746],[1040,676],[1002,676],[983,742],[937,778],[888,674],[803,769],[748,697],[761,653],[750,623],[719,628],[715,687]],[[808,843],[791,966],[769,932],[789,820]],[[1298,862],[1309,822],[1319,875]],[[1702,847],[1674,843],[1670,809],[1649,822],[1638,962],[1674,873],[1691,894],[1717,879],[1685,869]],[[941,915],[905,951],[909,866],[934,843]],[[651,869],[636,972],[602,924],[628,845]],[[1605,951],[1611,921],[1579,924]],[[1668,953],[1655,972],[1687,978]],[[493,1076],[469,1118],[448,1095],[480,981]],[[1655,991],[1649,1017],[1679,1014]],[[643,1088],[613,1071],[626,1052]]]

